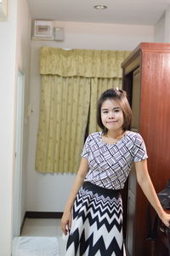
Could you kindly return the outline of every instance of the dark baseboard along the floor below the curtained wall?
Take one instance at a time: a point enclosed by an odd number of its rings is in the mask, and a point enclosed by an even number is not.
[[[63,212],[26,212],[23,218],[20,234],[22,233],[26,218],[61,218]]]

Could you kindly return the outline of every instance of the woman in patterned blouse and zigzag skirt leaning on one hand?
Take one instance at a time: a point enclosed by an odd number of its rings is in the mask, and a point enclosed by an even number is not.
[[[132,111],[123,90],[106,90],[99,98],[98,125],[89,135],[61,227],[69,232],[68,256],[122,256],[123,189],[133,162],[137,180],[161,221],[169,226],[147,170],[147,153],[139,133],[128,131]]]

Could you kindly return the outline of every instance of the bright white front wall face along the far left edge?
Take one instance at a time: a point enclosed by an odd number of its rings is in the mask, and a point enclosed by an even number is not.
[[[14,105],[17,0],[8,1],[8,20],[0,22],[0,255],[9,256],[12,239]]]

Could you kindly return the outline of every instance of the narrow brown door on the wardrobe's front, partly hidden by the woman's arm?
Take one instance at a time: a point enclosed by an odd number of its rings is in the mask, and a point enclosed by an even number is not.
[[[139,68],[133,71],[133,88],[132,88],[132,111],[133,122],[131,131],[139,131],[139,110],[140,110],[140,72]],[[127,253],[134,255],[134,238],[135,238],[135,208],[136,208],[136,173],[135,167],[130,172],[128,178],[128,196],[127,196]]]

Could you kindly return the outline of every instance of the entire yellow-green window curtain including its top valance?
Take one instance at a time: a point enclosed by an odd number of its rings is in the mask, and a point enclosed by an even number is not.
[[[42,47],[41,113],[37,136],[38,172],[77,172],[85,131],[98,131],[99,95],[122,86],[127,51]]]

